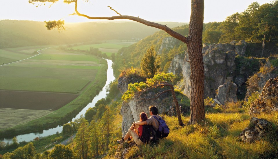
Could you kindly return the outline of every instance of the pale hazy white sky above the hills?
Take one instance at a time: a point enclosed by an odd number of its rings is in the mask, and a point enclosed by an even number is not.
[[[254,1],[256,0],[205,0],[204,23],[224,21],[235,12],[243,12]],[[264,4],[270,0],[257,2]],[[40,4],[33,5],[28,0],[1,0],[0,19],[49,21],[63,18],[70,23],[92,21],[84,17],[68,16],[74,12],[74,5],[65,4],[63,0],[51,7],[51,3]],[[89,16],[116,16],[108,5],[122,15],[139,16],[148,21],[189,22],[191,12],[190,0],[80,0],[78,10]]]

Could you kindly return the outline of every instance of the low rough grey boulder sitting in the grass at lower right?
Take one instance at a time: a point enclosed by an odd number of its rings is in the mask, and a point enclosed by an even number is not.
[[[246,127],[240,133],[239,138],[244,142],[252,143],[264,136],[270,123],[264,119],[252,118],[249,125],[251,126]]]

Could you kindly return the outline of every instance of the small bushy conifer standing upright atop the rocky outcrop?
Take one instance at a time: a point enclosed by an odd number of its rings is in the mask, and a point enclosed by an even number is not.
[[[147,78],[152,78],[160,68],[158,61],[159,57],[156,55],[154,46],[151,46],[144,54],[144,57],[142,58],[140,63],[142,75]]]

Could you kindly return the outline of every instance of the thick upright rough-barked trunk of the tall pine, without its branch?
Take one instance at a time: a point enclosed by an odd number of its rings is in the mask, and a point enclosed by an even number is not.
[[[204,106],[204,62],[202,55],[202,30],[204,22],[204,1],[191,0],[191,16],[189,23],[189,54],[190,75],[190,119],[188,124],[205,119]]]

